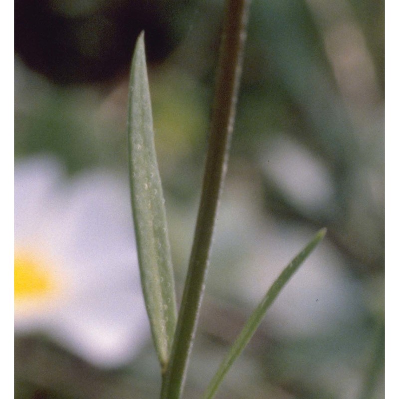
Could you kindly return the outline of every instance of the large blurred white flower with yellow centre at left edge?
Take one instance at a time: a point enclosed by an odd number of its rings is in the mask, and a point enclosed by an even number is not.
[[[129,362],[150,333],[127,185],[104,171],[65,181],[56,160],[32,158],[14,186],[15,333],[96,366]]]

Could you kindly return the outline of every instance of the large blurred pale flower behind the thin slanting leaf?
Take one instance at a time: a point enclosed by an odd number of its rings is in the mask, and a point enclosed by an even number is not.
[[[223,228],[215,232],[212,255],[218,270],[211,268],[208,283],[220,296],[234,292],[233,298],[248,309],[259,303],[317,231],[316,226],[260,213],[264,209],[258,187],[245,177],[226,186],[218,213]],[[365,317],[361,295],[360,283],[327,233],[268,309],[265,321],[275,336],[284,339],[335,334]]]

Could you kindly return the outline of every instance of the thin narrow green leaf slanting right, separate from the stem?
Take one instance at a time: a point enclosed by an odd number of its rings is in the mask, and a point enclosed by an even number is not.
[[[212,378],[208,388],[205,391],[205,394],[203,396],[204,399],[211,399],[214,397],[224,376],[229,371],[230,367],[237,359],[237,357],[244,350],[244,348],[252,338],[253,334],[255,333],[256,329],[259,327],[259,324],[262,321],[267,309],[276,299],[281,289],[285,286],[285,284],[295,273],[298,267],[309,256],[309,254],[313,251],[316,245],[323,239],[325,234],[326,229],[321,229],[308,243],[308,245],[291,261],[291,263],[289,263],[289,265],[282,271],[277,280],[269,288],[260,304],[252,312],[248,321],[245,323],[243,329],[241,330],[240,335],[235,340],[226,357],[219,366],[219,369],[217,370],[216,374]]]

